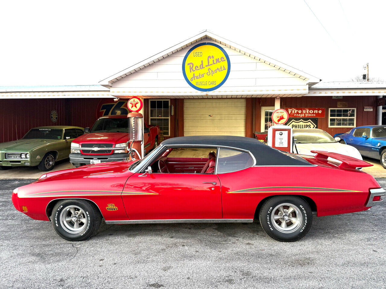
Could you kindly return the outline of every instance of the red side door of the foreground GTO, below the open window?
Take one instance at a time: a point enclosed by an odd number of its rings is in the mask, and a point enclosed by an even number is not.
[[[222,218],[220,181],[213,173],[139,171],[127,180],[122,200],[130,220]]]

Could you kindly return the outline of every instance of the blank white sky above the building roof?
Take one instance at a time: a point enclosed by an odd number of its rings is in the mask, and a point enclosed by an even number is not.
[[[208,29],[323,81],[386,81],[386,1],[6,1],[0,86],[98,84]]]

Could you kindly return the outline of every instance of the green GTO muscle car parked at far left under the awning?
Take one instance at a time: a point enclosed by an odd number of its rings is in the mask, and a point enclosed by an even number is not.
[[[71,141],[83,134],[78,126],[32,128],[22,139],[0,143],[0,169],[12,166],[37,166],[50,171],[56,161],[68,158]]]

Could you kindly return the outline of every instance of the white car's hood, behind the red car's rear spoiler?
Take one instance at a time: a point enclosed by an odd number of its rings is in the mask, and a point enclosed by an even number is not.
[[[359,151],[353,146],[342,143],[297,143],[296,148],[300,155],[315,156],[315,153],[311,151],[329,151],[332,153],[340,153],[345,156],[352,156],[362,160],[362,156]],[[295,150],[296,152],[296,150]]]

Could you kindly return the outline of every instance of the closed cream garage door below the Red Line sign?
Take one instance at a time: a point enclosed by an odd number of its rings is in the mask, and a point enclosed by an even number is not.
[[[184,135],[245,136],[245,99],[184,99]]]

